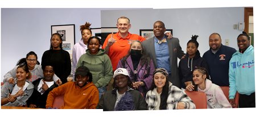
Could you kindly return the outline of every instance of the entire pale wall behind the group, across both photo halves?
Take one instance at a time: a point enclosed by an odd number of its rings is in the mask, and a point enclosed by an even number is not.
[[[102,11],[101,11],[102,10]],[[241,31],[233,30],[233,24],[243,22],[243,7],[202,9],[1,9],[1,81],[16,62],[34,51],[41,61],[43,52],[49,49],[51,25],[75,24],[76,42],[81,38],[79,26],[92,23],[92,28],[115,27],[119,16],[131,20],[130,32],[152,29],[156,20],[162,20],[166,28],[174,30],[183,50],[191,35],[199,35],[201,55],[209,49],[208,37],[218,32],[222,40],[237,49],[236,38]],[[222,41],[224,42],[224,41]]]

